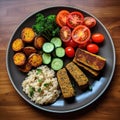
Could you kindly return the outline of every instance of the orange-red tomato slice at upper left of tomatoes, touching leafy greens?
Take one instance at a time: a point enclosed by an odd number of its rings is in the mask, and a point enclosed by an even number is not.
[[[60,26],[63,27],[67,23],[67,17],[69,15],[69,11],[67,10],[61,10],[57,16],[56,16],[56,23]]]

